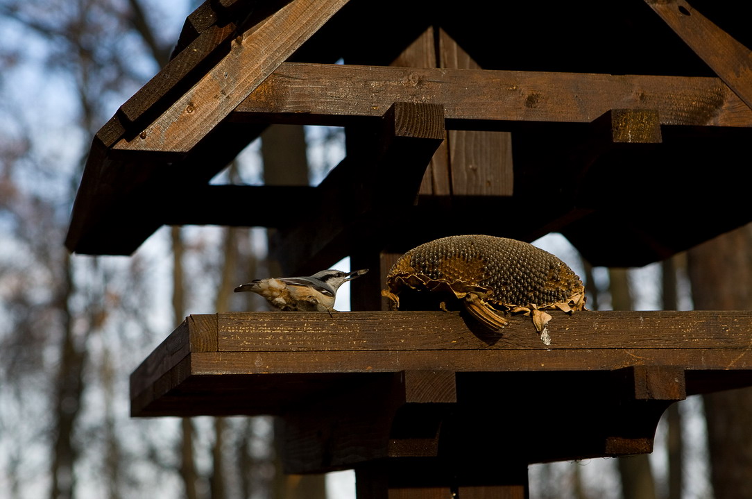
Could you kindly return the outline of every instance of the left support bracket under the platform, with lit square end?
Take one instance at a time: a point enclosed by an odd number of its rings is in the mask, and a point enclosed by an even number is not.
[[[441,421],[456,403],[454,373],[405,371],[363,381],[285,412],[290,472],[348,467],[352,456],[362,461],[438,454]]]

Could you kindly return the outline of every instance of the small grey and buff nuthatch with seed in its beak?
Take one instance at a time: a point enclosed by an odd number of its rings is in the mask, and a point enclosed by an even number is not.
[[[368,272],[368,269],[342,272],[327,269],[308,277],[254,279],[235,288],[235,293],[250,291],[264,297],[271,306],[285,312],[336,312],[334,302],[339,287]]]

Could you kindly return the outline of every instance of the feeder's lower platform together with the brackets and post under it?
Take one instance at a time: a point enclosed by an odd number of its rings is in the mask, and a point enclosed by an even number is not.
[[[490,337],[456,312],[190,316],[132,374],[132,414],[277,414],[290,473],[483,497],[525,490],[508,466],[650,452],[671,403],[752,385],[752,312],[552,315],[548,347],[521,317]]]

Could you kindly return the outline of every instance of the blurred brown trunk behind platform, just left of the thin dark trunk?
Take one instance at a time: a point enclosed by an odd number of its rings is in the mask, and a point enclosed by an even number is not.
[[[609,269],[611,306],[614,310],[632,310],[629,273],[626,269]],[[621,490],[624,499],[655,499],[655,481],[646,454],[619,458]]]

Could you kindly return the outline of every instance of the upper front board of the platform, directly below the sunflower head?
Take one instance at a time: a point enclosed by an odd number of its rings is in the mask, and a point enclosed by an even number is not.
[[[752,347],[752,312],[552,312],[546,347],[529,318],[478,336],[458,312],[232,312],[218,315],[219,351],[555,351]],[[472,323],[469,323],[472,326]],[[479,331],[476,329],[475,331]],[[574,353],[574,352],[573,352]],[[635,358],[639,360],[639,357]],[[675,362],[669,363],[675,365]]]

